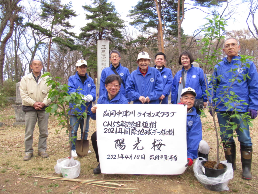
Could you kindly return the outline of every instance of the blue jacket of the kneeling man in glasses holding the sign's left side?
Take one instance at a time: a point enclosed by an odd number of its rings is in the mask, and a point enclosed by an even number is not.
[[[105,91],[104,95],[100,96],[98,98],[98,104],[112,104],[112,105],[115,105],[115,104],[123,104],[123,105],[128,105],[128,101],[127,99],[124,97],[124,95],[122,94],[121,91],[119,91],[117,93],[117,95],[111,99],[109,101],[108,99],[108,92],[107,90]],[[97,105],[98,106],[98,105]],[[96,120],[96,113],[92,113],[91,112],[91,118],[93,120]]]

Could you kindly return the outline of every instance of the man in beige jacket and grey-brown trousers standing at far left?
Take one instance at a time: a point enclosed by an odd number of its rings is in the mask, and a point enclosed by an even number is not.
[[[34,59],[30,68],[32,72],[21,78],[20,93],[22,99],[22,110],[25,111],[25,156],[23,160],[30,160],[33,156],[33,132],[38,120],[39,138],[38,155],[47,158],[47,122],[49,113],[45,113],[46,107],[51,100],[48,99],[50,86],[46,84],[46,77],[41,77],[43,64],[40,60]]]

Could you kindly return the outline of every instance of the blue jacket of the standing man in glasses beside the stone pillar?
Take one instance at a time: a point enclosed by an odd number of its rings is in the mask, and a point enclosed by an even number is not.
[[[110,67],[104,68],[101,71],[100,86],[99,86],[99,96],[102,96],[105,93],[105,91],[107,90],[106,87],[105,87],[105,80],[106,80],[106,78],[108,76],[110,76],[111,74],[115,74],[112,69],[116,70],[116,72],[119,74],[119,76],[124,81],[124,84],[126,83],[127,77],[130,75],[130,72],[129,72],[128,68],[123,67],[121,65],[121,63],[119,63],[119,66],[118,66],[117,69],[115,69],[114,66],[112,66],[112,63],[111,63]],[[121,84],[120,90],[121,90],[122,94],[126,97],[125,88],[124,88],[123,84]],[[128,100],[128,102],[130,102],[129,98],[127,98],[127,100]]]

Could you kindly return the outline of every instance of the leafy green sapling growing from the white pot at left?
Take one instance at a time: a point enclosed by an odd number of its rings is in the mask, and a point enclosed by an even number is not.
[[[77,136],[72,137],[71,131],[74,126],[70,125],[71,114],[69,113],[72,112],[73,114],[78,115],[78,120],[82,117],[86,118],[87,111],[83,113],[76,111],[76,108],[81,110],[81,105],[86,106],[86,101],[83,100],[84,95],[80,94],[79,92],[70,93],[69,86],[67,84],[62,85],[58,81],[62,78],[55,77],[53,79],[49,72],[42,75],[42,77],[45,76],[49,76],[46,83],[47,85],[51,85],[48,98],[50,98],[52,101],[49,107],[46,108],[46,112],[48,112],[50,115],[57,116],[57,120],[59,121],[58,125],[62,126],[61,130],[66,129],[66,135],[69,137],[69,158],[71,158],[72,143],[74,143],[73,139],[77,138]],[[80,88],[78,88],[78,90],[80,90]],[[70,106],[71,104],[74,106]],[[56,132],[59,133],[61,130],[56,130]]]

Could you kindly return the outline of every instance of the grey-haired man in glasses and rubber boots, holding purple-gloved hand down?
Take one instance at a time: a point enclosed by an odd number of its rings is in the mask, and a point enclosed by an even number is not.
[[[252,61],[246,60],[244,64],[239,61],[241,56],[238,55],[240,50],[239,41],[235,37],[227,38],[224,41],[223,51],[227,57],[215,65],[212,76],[212,81],[209,85],[209,91],[212,99],[216,99],[217,118],[220,127],[220,131],[225,134],[221,135],[222,140],[229,140],[224,146],[225,158],[229,163],[232,163],[232,167],[236,170],[236,144],[235,140],[231,136],[232,130],[226,130],[228,122],[237,123],[236,129],[238,141],[240,142],[240,153],[242,162],[242,178],[245,180],[251,180],[251,163],[252,163],[252,141],[249,133],[249,125],[247,126],[238,118],[230,117],[233,109],[225,106],[228,103],[228,99],[223,99],[224,94],[237,95],[241,102],[239,104],[230,103],[234,109],[238,110],[238,114],[248,113],[252,119],[257,116],[258,109],[258,74],[256,66]],[[220,77],[220,78],[219,78]],[[232,82],[232,80],[234,80]],[[211,102],[212,103],[212,102]],[[214,103],[214,102],[213,102]],[[242,128],[240,130],[240,128]],[[243,129],[245,128],[245,129]],[[231,136],[231,137],[230,137]]]

